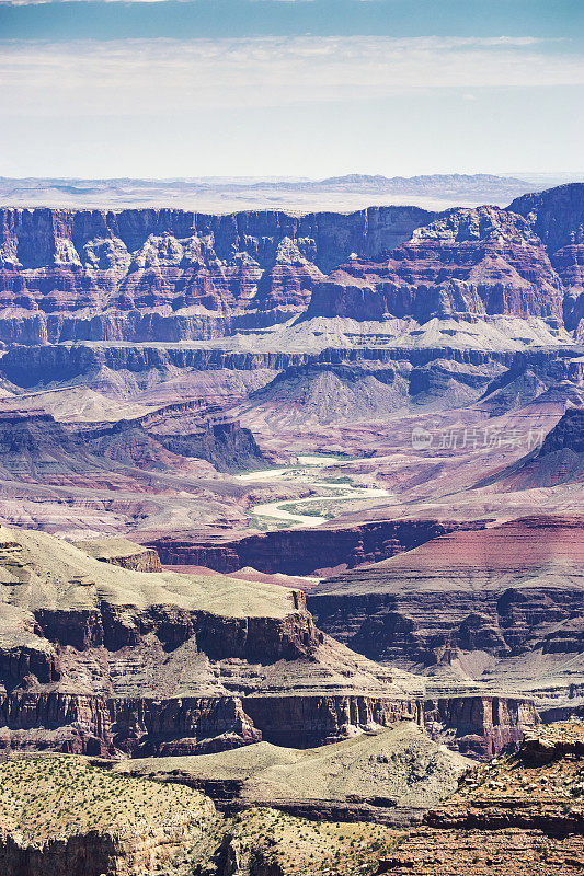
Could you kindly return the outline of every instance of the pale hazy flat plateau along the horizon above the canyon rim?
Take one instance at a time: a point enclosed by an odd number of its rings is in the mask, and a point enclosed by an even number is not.
[[[282,208],[359,209],[371,204],[413,204],[427,209],[479,204],[508,204],[514,197],[545,188],[534,180],[492,174],[382,176],[348,174],[327,180],[295,177],[193,177],[174,180],[82,180],[0,177],[0,205],[46,207],[172,206],[199,211],[233,212]],[[565,182],[560,180],[554,182]]]

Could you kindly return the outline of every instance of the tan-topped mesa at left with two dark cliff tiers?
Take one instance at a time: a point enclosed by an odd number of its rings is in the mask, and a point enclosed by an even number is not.
[[[130,572],[42,533],[1,535],[0,738],[9,750],[243,745],[260,733],[241,695],[265,672],[274,689],[278,661],[302,677],[322,644],[299,591]]]

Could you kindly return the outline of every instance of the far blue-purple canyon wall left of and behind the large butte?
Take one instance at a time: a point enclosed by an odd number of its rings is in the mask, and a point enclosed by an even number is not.
[[[306,308],[322,270],[394,246],[431,216],[4,209],[0,339],[172,342],[271,325]]]

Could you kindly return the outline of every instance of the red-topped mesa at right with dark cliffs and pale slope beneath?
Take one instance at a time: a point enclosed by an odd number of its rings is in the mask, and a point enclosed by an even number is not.
[[[317,623],[376,660],[577,707],[583,521],[533,517],[443,535],[319,585]]]

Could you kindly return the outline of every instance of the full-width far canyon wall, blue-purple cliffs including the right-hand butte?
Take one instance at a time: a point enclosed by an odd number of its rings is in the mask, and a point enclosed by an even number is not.
[[[305,312],[419,323],[508,314],[552,325],[565,313],[576,328],[581,237],[579,184],[507,210],[438,216],[414,207],[300,217],[4,209],[0,341],[168,344]]]

